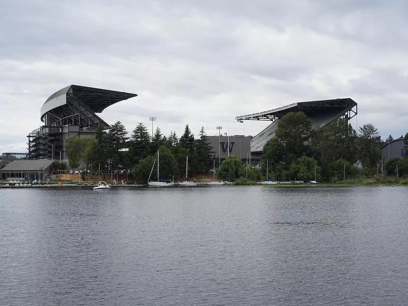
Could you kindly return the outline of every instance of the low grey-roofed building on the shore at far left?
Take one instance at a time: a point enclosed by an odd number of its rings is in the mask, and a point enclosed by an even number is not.
[[[54,160],[14,160],[0,170],[0,179],[6,181],[45,181]]]

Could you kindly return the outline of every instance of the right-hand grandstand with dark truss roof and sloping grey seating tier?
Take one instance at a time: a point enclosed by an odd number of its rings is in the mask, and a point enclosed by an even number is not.
[[[261,113],[236,117],[235,119],[239,122],[244,120],[271,121],[266,129],[251,140],[250,150],[253,161],[260,158],[265,143],[275,136],[279,119],[291,112],[303,112],[312,119],[314,129],[319,129],[335,118],[346,120],[353,118],[357,115],[357,103],[351,98],[298,102]]]

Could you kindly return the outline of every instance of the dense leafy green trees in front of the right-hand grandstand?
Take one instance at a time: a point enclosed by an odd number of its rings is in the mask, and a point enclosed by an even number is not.
[[[269,177],[281,181],[338,182],[394,175],[397,167],[400,177],[408,176],[407,158],[382,161],[379,148],[391,140],[390,135],[382,141],[371,123],[356,132],[347,120],[338,118],[314,129],[304,113],[288,113],[279,120],[275,137],[264,146],[261,168],[265,173],[268,162]],[[408,152],[408,133],[404,148]]]

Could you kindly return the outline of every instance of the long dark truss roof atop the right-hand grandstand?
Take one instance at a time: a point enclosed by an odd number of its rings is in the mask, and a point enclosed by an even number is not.
[[[281,108],[254,113],[244,116],[235,117],[239,122],[243,120],[265,120],[265,121],[275,121],[281,119],[284,115],[290,112],[303,112],[307,116],[311,116],[315,113],[333,113],[339,112],[344,113],[344,116],[347,119],[350,119],[356,115],[356,111],[352,110],[353,107],[356,107],[357,103],[351,98],[339,98],[339,99],[330,99],[330,100],[319,100],[319,101],[307,101],[307,102],[298,102],[293,103]]]

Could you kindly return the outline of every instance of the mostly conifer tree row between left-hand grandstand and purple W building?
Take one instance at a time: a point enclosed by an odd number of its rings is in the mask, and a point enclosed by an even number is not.
[[[146,125],[139,123],[128,135],[124,125],[117,121],[107,131],[98,127],[95,137],[68,137],[65,150],[69,167],[75,169],[82,165],[93,172],[100,169],[101,174],[131,172],[135,180],[145,183],[158,150],[161,179],[183,176],[187,156],[188,173],[192,176],[213,166],[214,152],[204,127],[195,138],[187,124],[179,138],[174,131],[163,135],[159,127],[151,136]]]

